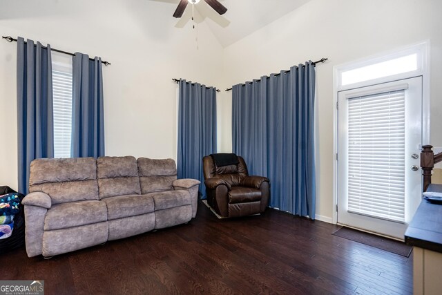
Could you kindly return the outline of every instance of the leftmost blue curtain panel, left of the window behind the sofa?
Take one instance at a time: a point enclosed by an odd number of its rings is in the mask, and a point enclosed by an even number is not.
[[[28,193],[30,162],[54,157],[50,45],[17,38],[19,192]]]

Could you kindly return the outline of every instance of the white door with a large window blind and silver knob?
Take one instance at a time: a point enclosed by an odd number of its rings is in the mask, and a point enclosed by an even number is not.
[[[403,234],[421,201],[422,77],[338,93],[338,223]]]

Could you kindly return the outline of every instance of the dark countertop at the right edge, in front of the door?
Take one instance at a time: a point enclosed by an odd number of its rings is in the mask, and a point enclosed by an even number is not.
[[[430,184],[427,191],[442,192],[442,184]],[[422,200],[405,231],[405,243],[442,253],[442,204]]]

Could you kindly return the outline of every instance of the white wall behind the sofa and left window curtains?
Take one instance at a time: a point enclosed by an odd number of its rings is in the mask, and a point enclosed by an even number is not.
[[[175,28],[175,3],[146,0],[0,0],[0,33],[99,56],[106,155],[176,158],[172,78],[208,86],[222,69],[222,46],[203,23]],[[168,17],[164,17],[164,16]],[[0,185],[17,189],[17,44],[0,40]]]

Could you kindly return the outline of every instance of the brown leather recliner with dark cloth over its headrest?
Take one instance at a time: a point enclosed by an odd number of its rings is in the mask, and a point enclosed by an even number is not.
[[[220,216],[263,213],[269,202],[269,179],[249,176],[242,157],[215,153],[202,158],[207,202]]]

